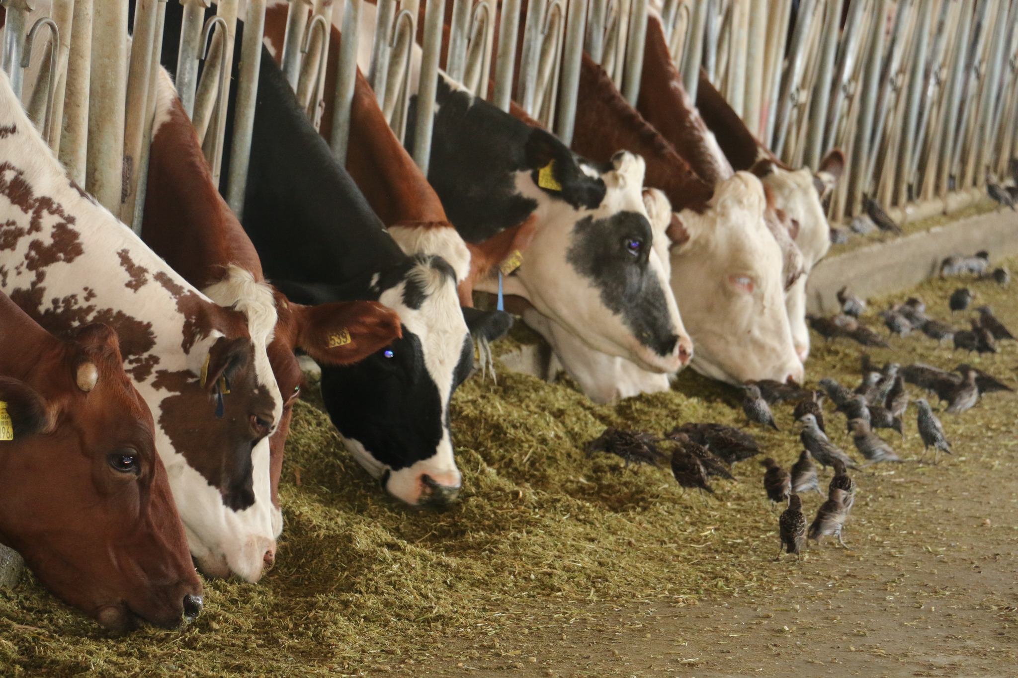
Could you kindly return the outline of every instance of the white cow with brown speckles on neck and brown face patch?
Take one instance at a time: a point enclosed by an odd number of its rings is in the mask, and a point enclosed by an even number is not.
[[[117,331],[191,553],[210,574],[253,581],[276,548],[267,438],[283,402],[266,355],[272,291],[234,273],[221,300],[244,313],[212,303],[68,179],[0,77],[0,289],[57,335],[97,321]]]

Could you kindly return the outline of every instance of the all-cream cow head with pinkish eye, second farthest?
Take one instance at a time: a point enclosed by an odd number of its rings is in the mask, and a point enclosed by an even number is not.
[[[759,180],[737,172],[716,186],[702,213],[683,210],[669,230],[672,290],[696,346],[692,367],[729,383],[802,379],[782,252],[765,208]]]

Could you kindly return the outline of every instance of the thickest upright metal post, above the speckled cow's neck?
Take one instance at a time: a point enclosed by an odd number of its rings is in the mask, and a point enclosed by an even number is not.
[[[123,191],[127,0],[100,0],[92,22],[87,191],[114,214]]]

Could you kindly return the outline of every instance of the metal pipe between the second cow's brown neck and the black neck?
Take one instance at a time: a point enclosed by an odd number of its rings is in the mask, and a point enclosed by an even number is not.
[[[242,220],[244,213],[251,133],[254,130],[254,104],[258,101],[258,76],[262,68],[265,6],[266,0],[247,0],[244,38],[240,42],[240,72],[237,73],[237,101],[233,114],[233,138],[230,141],[230,173],[226,179],[226,201],[238,220]]]

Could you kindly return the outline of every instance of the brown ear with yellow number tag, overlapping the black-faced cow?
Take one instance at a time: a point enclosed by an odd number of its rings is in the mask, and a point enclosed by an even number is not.
[[[374,301],[290,304],[296,348],[320,365],[352,365],[403,335],[399,314]]]

